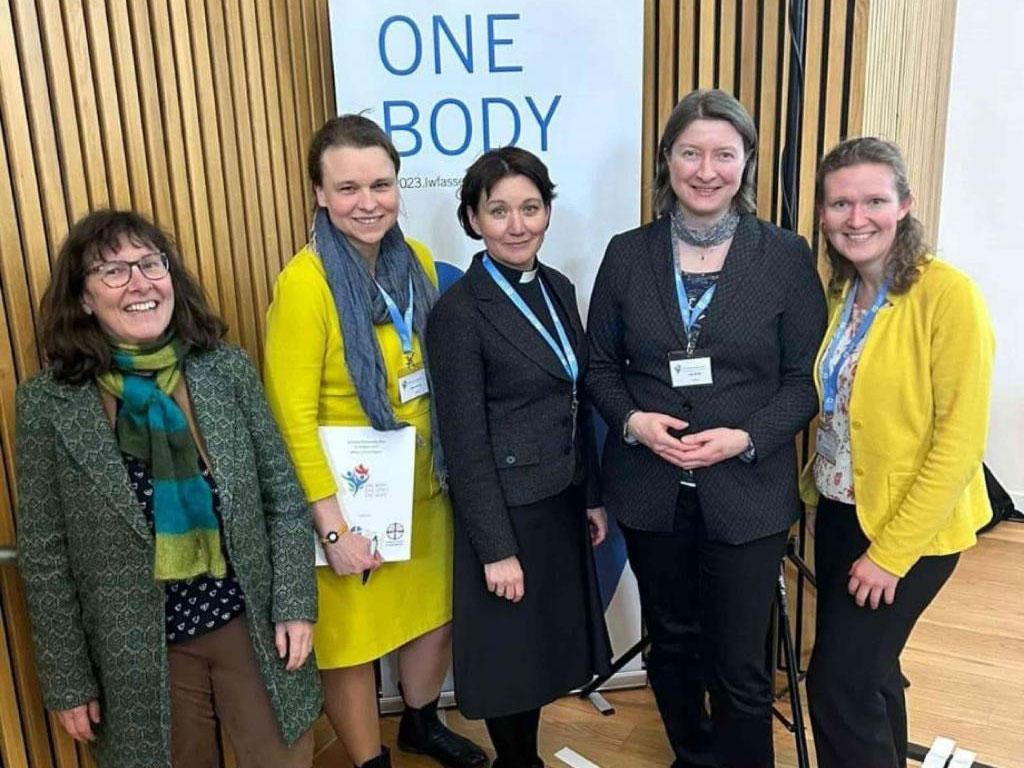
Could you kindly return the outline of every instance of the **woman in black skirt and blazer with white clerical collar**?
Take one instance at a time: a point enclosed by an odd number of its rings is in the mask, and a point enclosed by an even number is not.
[[[591,550],[606,519],[587,341],[572,284],[537,259],[553,190],[524,150],[473,163],[459,219],[486,250],[427,325],[456,512],[456,695],[486,718],[496,768],[543,766],[540,708],[610,655]]]

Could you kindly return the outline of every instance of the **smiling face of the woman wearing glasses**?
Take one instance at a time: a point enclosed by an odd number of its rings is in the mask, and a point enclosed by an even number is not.
[[[105,261],[137,261],[156,252],[148,243],[122,238],[116,250],[103,251],[86,267],[82,308],[118,343],[148,344],[164,335],[174,314],[174,284],[170,273],[150,280],[136,265],[131,267],[126,285],[111,288],[92,268]]]

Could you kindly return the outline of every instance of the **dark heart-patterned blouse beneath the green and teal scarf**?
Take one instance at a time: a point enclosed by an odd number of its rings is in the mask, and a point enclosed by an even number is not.
[[[144,462],[123,454],[131,488],[142,505],[153,529],[153,476]],[[202,465],[202,462],[200,463]],[[205,466],[200,470],[213,494],[213,513],[220,521],[220,490]],[[223,544],[221,545],[223,546]],[[197,577],[182,582],[167,582],[164,597],[165,631],[168,643],[193,640],[223,627],[246,609],[242,586],[234,577],[231,561],[224,551],[227,575],[223,579]]]

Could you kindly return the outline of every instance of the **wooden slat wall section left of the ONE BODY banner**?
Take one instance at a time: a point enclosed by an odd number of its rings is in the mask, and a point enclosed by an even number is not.
[[[83,214],[131,207],[174,232],[258,359],[273,280],[308,231],[304,147],[334,109],[327,25],[317,0],[0,0],[0,546],[14,542],[14,387],[39,369],[39,299]],[[0,764],[91,765],[42,708],[13,567]]]

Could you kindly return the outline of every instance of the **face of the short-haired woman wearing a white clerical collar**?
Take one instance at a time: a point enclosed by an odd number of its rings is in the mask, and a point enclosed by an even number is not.
[[[490,257],[513,269],[532,269],[551,210],[537,184],[523,175],[506,176],[469,209],[473,230]]]

